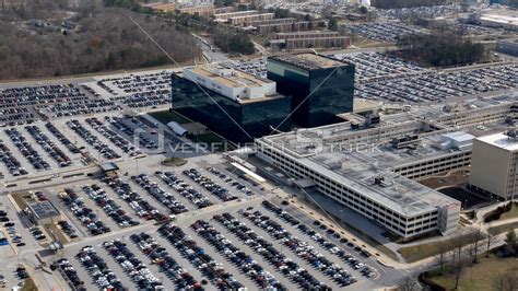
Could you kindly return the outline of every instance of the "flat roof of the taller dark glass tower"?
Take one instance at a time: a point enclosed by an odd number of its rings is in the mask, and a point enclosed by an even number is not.
[[[349,62],[340,62],[338,60],[315,54],[275,56],[271,57],[271,59],[289,63],[303,70],[318,70],[339,66],[351,66]]]

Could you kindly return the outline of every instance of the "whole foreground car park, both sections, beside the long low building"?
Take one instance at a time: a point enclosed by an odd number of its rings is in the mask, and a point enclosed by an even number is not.
[[[42,187],[37,197],[62,211],[56,230],[69,237],[48,265],[63,286],[75,290],[376,286],[380,272],[374,260],[331,242],[315,225],[269,202],[272,193],[242,179],[221,158],[200,156],[164,171],[153,170],[156,161],[142,161],[138,175],[130,170],[118,177],[91,176]],[[49,236],[36,230],[21,234],[16,242],[32,245],[36,237]]]

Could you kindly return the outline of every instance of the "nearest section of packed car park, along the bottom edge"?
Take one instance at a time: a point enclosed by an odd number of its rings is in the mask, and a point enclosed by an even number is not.
[[[86,290],[120,284],[152,290],[373,287],[378,271],[364,257],[311,240],[309,225],[295,228],[293,221],[259,214],[271,213],[260,200],[245,206],[248,210],[234,206],[231,212],[184,214],[162,226],[74,245],[56,266],[69,266],[66,279]]]

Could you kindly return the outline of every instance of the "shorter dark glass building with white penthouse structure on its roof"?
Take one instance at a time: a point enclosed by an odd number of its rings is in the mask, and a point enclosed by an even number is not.
[[[269,135],[281,124],[280,130],[290,130],[290,98],[276,93],[275,82],[221,65],[173,74],[172,104],[181,115],[236,142]]]

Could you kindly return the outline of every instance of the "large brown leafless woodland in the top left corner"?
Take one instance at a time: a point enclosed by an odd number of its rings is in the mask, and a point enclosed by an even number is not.
[[[39,78],[133,69],[173,63],[129,19],[131,15],[178,62],[200,56],[192,36],[166,23],[102,0],[81,1],[69,21],[76,30],[63,33],[60,22],[66,0],[3,2],[0,11],[0,79]],[[27,20],[42,20],[37,28]],[[47,25],[51,23],[51,25]]]

